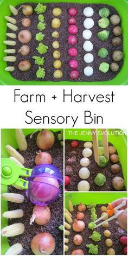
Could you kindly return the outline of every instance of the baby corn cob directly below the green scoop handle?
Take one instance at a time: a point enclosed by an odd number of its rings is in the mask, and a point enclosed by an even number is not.
[[[9,202],[22,203],[24,201],[24,196],[16,193],[4,193],[1,196]]]

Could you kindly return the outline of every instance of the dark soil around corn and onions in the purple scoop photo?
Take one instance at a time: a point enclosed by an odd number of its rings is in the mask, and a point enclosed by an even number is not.
[[[34,167],[34,159],[36,156],[36,152],[39,151],[39,148],[36,146],[36,132],[33,135],[33,138],[30,139],[30,135],[28,135],[27,143],[28,143],[28,150],[21,151],[22,156],[25,158],[25,167],[33,168]],[[53,164],[61,171],[63,176],[63,147],[60,145],[59,140],[57,139],[58,132],[54,133],[55,135],[55,144],[52,149],[47,150],[52,155]],[[11,219],[9,220],[9,225],[17,222],[24,223],[25,231],[22,235],[14,236],[12,238],[8,238],[9,244],[14,245],[16,242],[20,242],[23,245],[22,255],[31,255],[33,252],[30,249],[30,242],[36,234],[42,232],[48,232],[53,235],[55,239],[55,251],[53,252],[54,255],[61,255],[63,254],[63,232],[59,230],[59,226],[63,224],[63,185],[60,187],[61,193],[57,197],[57,200],[50,204],[51,210],[51,220],[47,225],[39,226],[35,222],[33,225],[30,225],[30,216],[33,213],[34,204],[32,204],[25,195],[24,190],[17,190],[12,186],[9,186],[8,192],[10,193],[18,193],[23,194],[25,200],[23,203],[12,203],[8,202],[8,209],[23,209],[24,216],[20,219]]]

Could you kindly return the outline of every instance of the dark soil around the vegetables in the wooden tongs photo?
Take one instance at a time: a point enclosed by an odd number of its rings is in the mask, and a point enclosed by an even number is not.
[[[78,191],[78,183],[82,181],[81,178],[79,177],[79,170],[82,168],[82,166],[80,165],[80,159],[83,157],[82,150],[84,149],[85,142],[82,140],[78,140],[78,142],[79,142],[78,148],[74,149],[71,147],[71,140],[68,140],[68,139],[65,140],[65,168],[66,168],[66,165],[71,165],[72,167],[72,171],[70,173],[68,171],[67,172],[65,171],[65,175],[69,175],[71,177],[71,183],[66,187],[68,191]],[[109,143],[109,145],[112,145],[112,144]],[[93,148],[92,148],[92,151],[93,151]],[[118,152],[116,153],[118,155]],[[73,156],[75,156],[75,159],[74,159],[75,161],[69,162],[69,159]],[[108,161],[108,164],[106,165],[105,168],[98,167],[98,164],[94,161],[94,154],[92,154],[92,156],[89,157],[89,161],[90,163],[87,168],[90,171],[90,176],[89,178],[87,178],[86,181],[89,182],[90,191],[115,191],[112,187],[112,179],[116,176],[120,176],[123,178],[122,169],[118,172],[118,174],[113,174],[110,170],[110,167],[113,164],[111,160]],[[118,164],[121,167],[120,162],[118,162]],[[104,174],[106,177],[106,183],[101,187],[99,187],[94,183],[94,178],[97,176],[99,172]],[[122,190],[125,191],[126,188],[124,187]]]

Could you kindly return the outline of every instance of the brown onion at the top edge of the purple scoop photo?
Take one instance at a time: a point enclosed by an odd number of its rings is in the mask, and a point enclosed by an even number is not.
[[[43,129],[41,132],[39,132],[39,135],[36,139],[36,144],[38,148],[43,150],[52,148],[54,142],[55,137],[53,132],[46,129]]]

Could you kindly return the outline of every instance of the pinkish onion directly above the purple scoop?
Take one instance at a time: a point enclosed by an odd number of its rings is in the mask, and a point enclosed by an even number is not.
[[[35,164],[52,164],[52,156],[49,153],[41,152],[40,150],[35,157]]]

